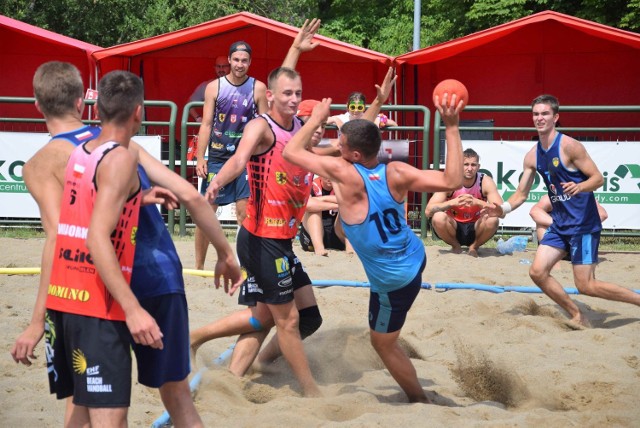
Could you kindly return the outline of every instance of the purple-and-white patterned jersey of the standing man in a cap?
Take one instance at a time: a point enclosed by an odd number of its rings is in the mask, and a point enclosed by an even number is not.
[[[236,86],[226,77],[218,79],[218,97],[209,136],[209,162],[225,162],[236,152],[244,126],[257,115],[253,93],[255,82],[256,79],[249,77]]]

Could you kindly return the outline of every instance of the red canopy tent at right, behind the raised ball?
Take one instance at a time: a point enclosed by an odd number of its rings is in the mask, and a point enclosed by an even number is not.
[[[640,104],[640,34],[556,12],[407,53],[395,62],[403,79],[399,104],[431,107],[433,88],[446,78],[467,86],[470,105],[529,105],[543,93],[558,97],[561,106]],[[640,126],[637,113],[572,115],[561,115],[564,126]],[[493,119],[496,126],[531,125],[522,113],[463,117]]]

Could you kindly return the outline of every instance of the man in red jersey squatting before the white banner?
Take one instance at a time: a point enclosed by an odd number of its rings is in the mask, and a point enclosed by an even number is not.
[[[493,179],[478,172],[478,153],[467,149],[463,157],[462,187],[455,192],[434,193],[425,214],[431,217],[434,232],[451,245],[452,252],[459,254],[462,246],[468,245],[469,255],[478,257],[478,248],[496,233],[499,224],[495,217],[480,215],[480,210],[494,202],[501,204],[502,198]]]

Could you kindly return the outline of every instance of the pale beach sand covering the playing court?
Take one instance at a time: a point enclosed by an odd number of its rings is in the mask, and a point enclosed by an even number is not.
[[[0,239],[0,267],[36,267],[42,239]],[[179,241],[186,268],[193,266],[193,243]],[[366,281],[358,259],[329,257],[295,247],[313,280]],[[213,267],[210,250],[207,268]],[[480,249],[475,259],[443,247],[427,249],[423,281],[533,286],[534,252],[500,255]],[[554,271],[573,287],[571,267]],[[601,252],[597,276],[640,288],[640,254]],[[0,365],[0,420],[6,427],[59,427],[64,405],[48,393],[44,345],[37,362],[17,365],[9,350],[31,317],[37,276],[0,275],[0,318],[4,358]],[[236,311],[236,296],[213,287],[211,278],[186,276],[192,327]],[[196,406],[206,426],[372,427],[456,426],[631,427],[640,424],[640,309],[587,296],[573,296],[593,328],[573,329],[563,311],[542,293],[422,290],[401,338],[418,378],[434,405],[407,404],[398,385],[369,343],[368,289],[316,287],[324,318],[305,341],[322,398],[303,398],[286,362],[244,378],[214,360],[234,338],[198,351],[202,380]],[[195,372],[195,370],[194,370]],[[150,426],[164,408],[157,390],[134,382],[130,426]]]

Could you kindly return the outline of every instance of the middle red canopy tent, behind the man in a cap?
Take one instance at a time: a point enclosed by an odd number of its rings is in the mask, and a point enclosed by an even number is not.
[[[266,83],[269,72],[284,59],[298,29],[271,19],[241,12],[193,27],[93,53],[99,74],[129,70],[144,79],[145,98],[171,100],[179,111],[194,88],[214,76],[214,60],[227,56],[229,46],[244,40],[253,50],[249,74]],[[346,103],[352,91],[375,96],[392,58],[328,37],[304,54],[297,69],[302,75],[303,98],[332,97]]]

